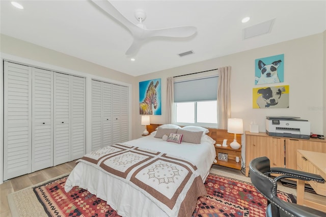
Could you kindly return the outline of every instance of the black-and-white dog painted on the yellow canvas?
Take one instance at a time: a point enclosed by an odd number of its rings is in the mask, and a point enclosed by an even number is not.
[[[285,87],[261,88],[257,94],[261,94],[257,99],[260,108],[286,108],[289,107],[289,94],[285,94]]]

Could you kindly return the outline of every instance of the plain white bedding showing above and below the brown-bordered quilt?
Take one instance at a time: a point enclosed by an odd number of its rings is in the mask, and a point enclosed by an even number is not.
[[[214,146],[207,141],[202,144],[176,144],[154,138],[154,134],[151,134],[124,144],[186,158],[197,166],[203,182],[209,174],[210,167],[215,159]],[[122,216],[144,217],[153,216],[153,214],[157,217],[168,216],[137,189],[102,171],[94,170],[94,167],[84,162],[78,162],[70,173],[65,184],[65,191],[70,191],[73,186],[87,189],[91,194],[110,204]]]

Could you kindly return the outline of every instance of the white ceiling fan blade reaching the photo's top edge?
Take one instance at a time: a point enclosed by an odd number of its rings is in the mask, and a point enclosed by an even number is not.
[[[95,1],[91,0],[95,5],[101,8],[105,13],[115,18],[118,22],[126,26],[126,28],[133,34],[135,31],[139,31],[139,27],[129,21],[123,16],[113,5],[108,1]]]

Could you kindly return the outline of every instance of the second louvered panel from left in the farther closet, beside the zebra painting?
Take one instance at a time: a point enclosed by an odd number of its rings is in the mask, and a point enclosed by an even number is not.
[[[112,145],[112,84],[102,83],[102,147]]]

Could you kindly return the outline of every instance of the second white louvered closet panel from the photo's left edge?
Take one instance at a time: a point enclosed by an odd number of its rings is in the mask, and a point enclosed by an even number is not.
[[[53,166],[53,72],[32,69],[32,172]]]

